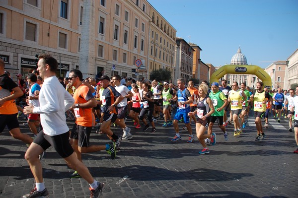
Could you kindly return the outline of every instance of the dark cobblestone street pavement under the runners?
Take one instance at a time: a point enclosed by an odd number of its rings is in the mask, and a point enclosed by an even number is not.
[[[20,123],[25,120],[20,119]],[[105,151],[83,154],[83,163],[91,174],[105,183],[103,198],[297,198],[298,155],[294,132],[288,131],[288,119],[277,123],[269,119],[266,137],[255,141],[256,129],[252,117],[239,137],[233,137],[229,126],[228,141],[215,127],[217,143],[210,153],[200,155],[198,139],[186,143],[188,133],[182,130],[182,140],[172,143],[173,127],[161,127],[157,121],[155,133],[136,130],[128,119],[133,139],[123,140],[115,160]],[[72,126],[71,121],[69,126]],[[195,127],[192,125],[195,134]],[[116,134],[122,130],[112,128]],[[21,126],[21,131],[30,133]],[[109,143],[105,135],[93,132],[91,142]],[[26,145],[13,139],[5,129],[0,133],[0,197],[20,198],[34,184],[24,159]],[[45,185],[51,198],[89,197],[88,184],[82,178],[69,178],[73,172],[64,160],[50,148],[43,164]]]

